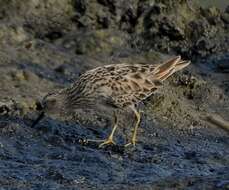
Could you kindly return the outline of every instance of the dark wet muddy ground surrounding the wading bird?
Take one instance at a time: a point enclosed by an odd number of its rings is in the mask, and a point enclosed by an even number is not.
[[[191,1],[0,0],[0,189],[229,189],[229,7]],[[87,139],[111,130],[96,108],[73,119],[46,115],[39,100],[99,65],[192,64],[120,115],[116,146]]]

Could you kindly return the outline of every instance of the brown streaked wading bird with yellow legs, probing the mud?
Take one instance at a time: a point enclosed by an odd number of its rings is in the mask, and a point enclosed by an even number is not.
[[[108,138],[101,140],[99,147],[115,144],[113,137],[118,127],[116,110],[128,108],[136,116],[131,140],[125,145],[136,145],[137,130],[141,115],[137,106],[154,94],[162,82],[173,73],[187,67],[190,61],[176,56],[159,64],[118,63],[99,66],[86,71],[69,87],[47,94],[42,100],[42,114],[33,125],[39,122],[44,112],[70,114],[78,108],[90,108],[95,102],[114,110],[114,125]]]

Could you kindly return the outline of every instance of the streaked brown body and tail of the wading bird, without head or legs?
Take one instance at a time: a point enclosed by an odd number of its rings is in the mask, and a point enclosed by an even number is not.
[[[68,96],[77,104],[101,97],[114,106],[135,104],[149,97],[162,81],[188,64],[178,56],[158,65],[124,63],[97,67],[84,73],[69,88]]]

